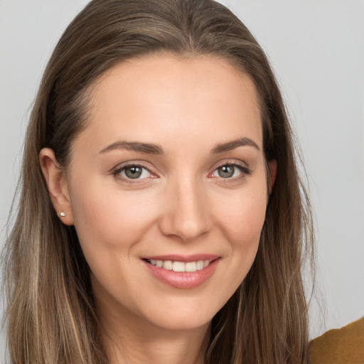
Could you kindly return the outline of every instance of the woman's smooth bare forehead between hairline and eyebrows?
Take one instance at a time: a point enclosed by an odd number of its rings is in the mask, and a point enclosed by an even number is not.
[[[163,143],[205,136],[216,144],[254,137],[262,147],[254,82],[227,60],[168,54],[128,60],[99,77],[89,97],[82,134],[93,134],[97,141],[120,137]]]

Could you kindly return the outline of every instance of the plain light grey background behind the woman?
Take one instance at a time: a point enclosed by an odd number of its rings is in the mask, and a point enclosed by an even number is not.
[[[221,2],[269,55],[301,143],[316,220],[314,337],[364,315],[364,1]],[[0,0],[1,228],[45,63],[85,4]]]

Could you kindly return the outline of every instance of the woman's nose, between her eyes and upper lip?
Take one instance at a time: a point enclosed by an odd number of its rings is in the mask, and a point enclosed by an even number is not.
[[[188,241],[210,230],[212,219],[208,198],[198,181],[185,178],[171,183],[167,190],[159,219],[159,228],[164,235]]]

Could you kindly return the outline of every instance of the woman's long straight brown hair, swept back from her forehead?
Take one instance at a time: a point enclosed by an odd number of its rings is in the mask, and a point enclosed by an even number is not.
[[[50,58],[26,132],[19,203],[4,250],[11,363],[107,363],[75,228],[50,203],[38,161],[50,147],[62,168],[87,120],[87,90],[129,58],[167,52],[213,55],[255,82],[266,160],[277,160],[259,250],[250,272],[212,322],[208,364],[308,363],[301,277],[313,240],[291,127],[262,48],[242,22],[211,0],[93,0]]]

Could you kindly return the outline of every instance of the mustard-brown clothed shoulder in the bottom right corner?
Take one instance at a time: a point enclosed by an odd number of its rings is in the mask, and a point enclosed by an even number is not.
[[[310,358],[311,364],[363,364],[364,317],[311,341]]]

